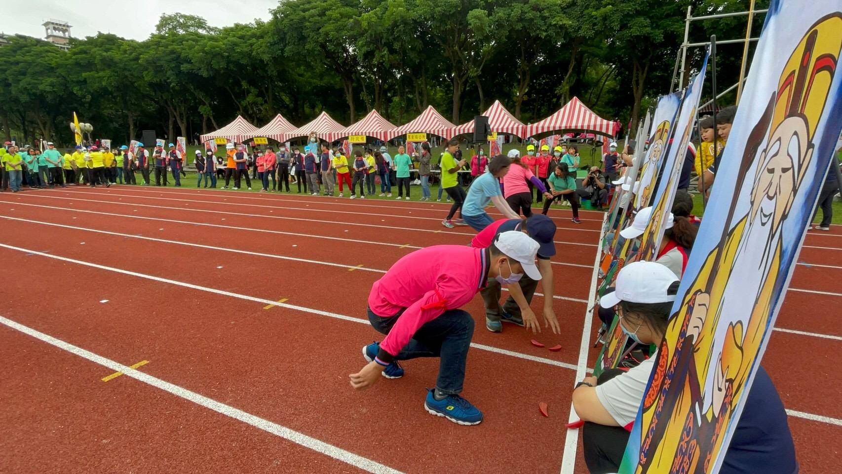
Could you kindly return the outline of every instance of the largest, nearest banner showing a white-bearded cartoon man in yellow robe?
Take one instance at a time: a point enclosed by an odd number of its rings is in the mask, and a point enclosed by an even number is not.
[[[717,472],[842,130],[837,0],[772,0],[620,472]]]

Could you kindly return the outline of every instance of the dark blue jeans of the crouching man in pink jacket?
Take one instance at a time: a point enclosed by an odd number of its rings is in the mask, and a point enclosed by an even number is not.
[[[380,317],[368,310],[371,327],[378,333],[388,334],[397,318],[406,308],[393,317]],[[468,349],[471,348],[474,322],[471,315],[463,310],[447,310],[433,321],[427,322],[409,343],[404,346],[395,359],[408,360],[417,357],[439,357],[439,378],[435,387],[440,393],[455,395],[462,391],[465,381],[465,362]]]

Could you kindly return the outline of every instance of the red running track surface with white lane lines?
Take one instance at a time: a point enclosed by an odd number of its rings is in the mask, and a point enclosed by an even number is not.
[[[240,296],[0,248],[6,268],[24,272],[4,281],[7,294],[23,297],[8,301],[0,316],[125,365],[150,360],[141,372],[398,471],[558,472],[583,302],[554,300],[562,334],[537,338],[562,344],[557,353],[532,347],[533,336],[519,328],[485,331],[479,297],[466,306],[477,320],[473,342],[482,344],[469,356],[465,391],[486,414],[477,427],[424,412],[434,359],[409,361],[402,379],[371,391],[348,385],[347,375],[364,364],[360,347],[379,338],[365,321],[365,297],[381,276],[371,270],[386,270],[413,250],[401,246],[469,242],[470,228],[440,226],[446,210],[444,204],[187,188],[4,194],[0,243]],[[599,232],[589,231],[599,230],[601,214],[583,213],[593,221],[576,226],[569,213],[551,211],[557,242],[589,245],[557,243],[554,261],[592,265]],[[805,245],[826,248],[804,248],[800,262],[842,267],[839,227],[810,232]],[[591,269],[553,268],[565,277],[555,279],[557,296],[588,298]],[[839,271],[799,265],[791,288],[838,293]],[[44,281],[51,290],[35,298]],[[254,298],[288,298],[289,305],[354,319],[267,310]],[[842,328],[834,310],[840,298],[790,291],[777,327],[831,338],[778,331],[764,358],[786,407],[818,415],[818,421],[790,417],[804,472],[824,471],[838,459],[842,441],[836,363]],[[589,328],[591,340],[597,326]],[[0,440],[0,450],[11,453],[0,457],[0,471],[359,471],[127,375],[100,381],[113,370],[5,325],[0,356],[7,361],[0,377],[8,381],[0,397],[13,407],[0,412],[0,423],[15,427]],[[591,350],[589,364],[595,357]],[[549,403],[550,418],[541,417],[538,402]],[[584,472],[580,452],[578,458],[576,471]]]

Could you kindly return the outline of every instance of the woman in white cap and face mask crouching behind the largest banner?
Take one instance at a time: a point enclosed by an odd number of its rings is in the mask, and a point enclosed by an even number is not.
[[[617,275],[600,306],[616,307],[623,333],[637,344],[660,344],[669,328],[679,280],[655,262],[634,262]],[[584,460],[592,474],[617,472],[646,392],[658,351],[628,371],[605,370],[573,388],[573,408],[584,421]],[[722,462],[721,474],[797,472],[795,447],[781,397],[762,366]]]

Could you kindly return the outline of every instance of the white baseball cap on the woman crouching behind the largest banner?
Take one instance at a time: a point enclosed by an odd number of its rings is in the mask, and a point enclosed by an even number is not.
[[[600,298],[600,306],[610,308],[620,301],[668,303],[675,300],[669,286],[678,280],[672,270],[657,262],[632,262],[617,274],[616,285]]]

